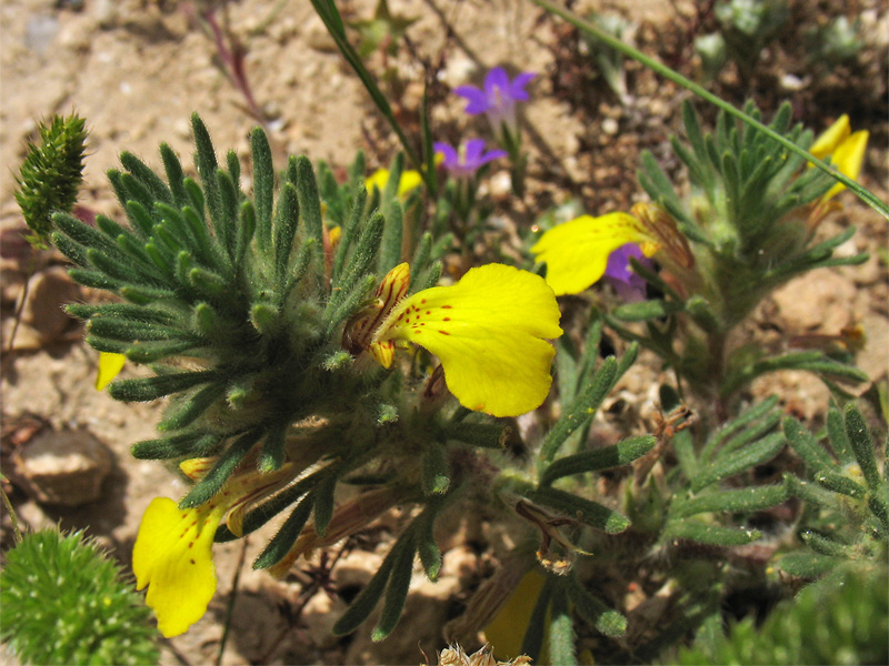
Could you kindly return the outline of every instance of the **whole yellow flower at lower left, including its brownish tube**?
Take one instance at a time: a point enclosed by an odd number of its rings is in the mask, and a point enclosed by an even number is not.
[[[184,461],[180,467],[197,478],[210,470],[213,458]],[[256,470],[236,474],[209,502],[179,508],[169,497],[151,501],[132,549],[136,588],[148,585],[146,603],[154,610],[158,628],[167,638],[183,634],[207,612],[216,592],[213,535],[222,517],[240,534],[247,505],[279,488],[290,477],[290,465],[278,472]]]

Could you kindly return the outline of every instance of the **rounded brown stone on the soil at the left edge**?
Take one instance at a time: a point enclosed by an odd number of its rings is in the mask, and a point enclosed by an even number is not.
[[[88,431],[44,431],[12,457],[14,481],[43,504],[80,506],[101,495],[111,453]]]

